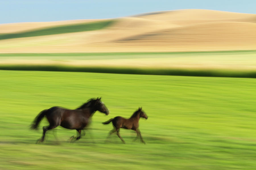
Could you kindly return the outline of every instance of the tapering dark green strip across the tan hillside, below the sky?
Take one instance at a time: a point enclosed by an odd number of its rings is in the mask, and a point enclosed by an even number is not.
[[[22,37],[34,37],[34,36],[42,36],[42,35],[73,33],[73,32],[81,32],[81,31],[93,31],[97,29],[103,29],[104,27],[112,24],[113,22],[114,22],[113,20],[107,20],[107,21],[93,22],[93,23],[50,27],[50,28],[38,29],[34,31],[26,31],[21,33],[0,34],[0,40],[22,38]]]

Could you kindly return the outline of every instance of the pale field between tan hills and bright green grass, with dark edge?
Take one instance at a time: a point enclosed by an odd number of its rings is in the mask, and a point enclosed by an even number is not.
[[[256,51],[21,53],[0,54],[0,69],[256,78],[255,59]]]

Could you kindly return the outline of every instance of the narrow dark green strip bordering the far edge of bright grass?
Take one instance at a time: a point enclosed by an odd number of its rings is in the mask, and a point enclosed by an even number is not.
[[[81,67],[63,65],[0,65],[0,70],[20,71],[67,71],[91,73],[141,74],[141,75],[175,75],[175,76],[207,76],[207,77],[240,77],[256,78],[256,71],[236,70],[204,70],[204,69],[154,69],[124,67]]]

